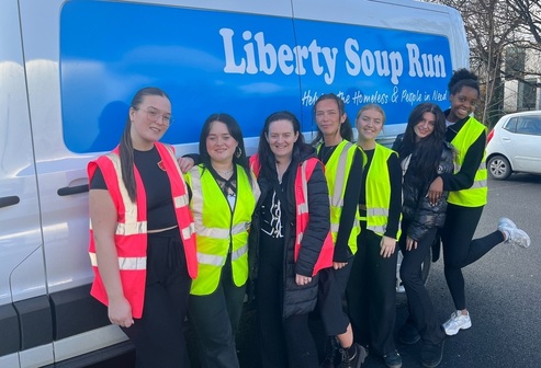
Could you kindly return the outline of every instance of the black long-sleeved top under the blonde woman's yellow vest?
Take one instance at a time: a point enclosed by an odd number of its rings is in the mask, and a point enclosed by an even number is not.
[[[375,149],[364,150],[367,154],[367,164],[364,165],[364,172],[368,173],[370,164],[374,157]],[[398,225],[402,214],[402,169],[398,160],[398,154],[391,154],[387,159],[388,179],[391,181],[391,188],[399,188],[397,191],[391,189],[391,203],[388,206],[387,228],[384,235],[396,239],[398,233]],[[359,196],[359,204],[367,204],[367,175],[362,175],[361,195]],[[361,216],[365,216],[361,214]]]

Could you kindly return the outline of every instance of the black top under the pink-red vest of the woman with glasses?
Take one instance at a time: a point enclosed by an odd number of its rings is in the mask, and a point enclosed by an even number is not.
[[[134,162],[147,196],[147,229],[157,230],[177,226],[171,184],[167,173],[160,169],[161,158],[156,146],[149,151],[134,150]],[[99,166],[90,182],[90,189],[108,189]]]

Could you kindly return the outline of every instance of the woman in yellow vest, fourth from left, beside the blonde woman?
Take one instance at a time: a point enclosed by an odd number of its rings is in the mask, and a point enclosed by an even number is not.
[[[353,140],[353,129],[345,111],[343,101],[334,93],[323,94],[314,105],[317,135],[313,141],[317,158],[325,164],[329,187],[330,231],[335,251],[333,268],[319,276],[317,310],[325,327],[326,357],[322,368],[338,366],[339,348],[353,347],[353,333],[348,315],[342,310],[353,255],[357,252],[359,225],[358,198],[361,191],[362,151]],[[335,337],[336,336],[336,337]],[[356,346],[361,355],[367,352]],[[362,361],[362,359],[361,359]]]

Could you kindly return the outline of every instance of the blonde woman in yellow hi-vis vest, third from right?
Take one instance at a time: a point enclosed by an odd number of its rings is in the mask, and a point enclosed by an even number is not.
[[[385,123],[380,105],[361,107],[358,145],[367,156],[359,196],[361,233],[347,288],[356,342],[369,346],[390,368],[402,367],[393,330],[396,318],[397,239],[402,212],[402,171],[395,151],[375,138]]]

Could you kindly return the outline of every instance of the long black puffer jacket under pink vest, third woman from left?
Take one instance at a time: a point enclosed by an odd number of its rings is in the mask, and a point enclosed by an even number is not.
[[[292,161],[291,173],[288,180],[288,187],[285,192],[285,200],[288,202],[285,208],[288,211],[288,218],[291,219],[289,223],[284,225],[284,264],[285,273],[283,280],[283,304],[282,315],[288,318],[294,314],[308,313],[314,310],[317,302],[317,285],[318,276],[312,277],[312,283],[305,286],[298,286],[295,283],[295,274],[303,276],[312,276],[317,257],[322,250],[325,238],[330,230],[330,208],[328,187],[323,171],[323,164],[316,165],[309,181],[308,181],[308,208],[309,208],[309,222],[304,232],[301,243],[301,251],[297,262],[293,261],[294,246],[295,246],[295,194],[294,182],[296,168],[302,164],[306,159],[315,157],[315,150],[311,146],[303,147],[301,152],[294,154]],[[294,169],[294,170],[293,170]],[[261,230],[260,208],[264,202],[267,195],[272,194],[273,185],[267,177],[258,177],[258,184],[261,189],[258,205],[253,212],[250,235],[249,235],[249,262],[250,262],[250,280],[253,286],[253,280],[258,277],[259,269],[259,237]],[[264,292],[264,290],[255,290],[256,298],[258,292]]]

